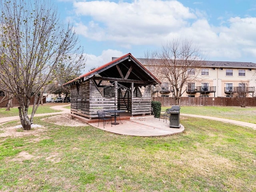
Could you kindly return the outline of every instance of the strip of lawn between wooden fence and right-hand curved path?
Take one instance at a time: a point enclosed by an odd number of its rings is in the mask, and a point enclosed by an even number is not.
[[[162,107],[162,111],[171,107]],[[181,106],[180,113],[213,116],[256,123],[256,107]]]

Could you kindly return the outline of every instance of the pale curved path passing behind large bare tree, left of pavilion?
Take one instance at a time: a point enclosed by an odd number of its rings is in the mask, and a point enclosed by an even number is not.
[[[46,115],[58,115],[58,114],[70,113],[70,109],[63,108],[63,107],[66,107],[66,106],[70,106],[70,104],[52,106],[51,107],[52,109],[60,110],[60,111],[59,112],[53,112],[53,113],[35,114],[34,117],[41,117],[41,116],[46,116]],[[0,118],[0,123],[5,123],[5,122],[15,121],[15,120],[20,120],[20,116],[2,117],[2,118]]]

